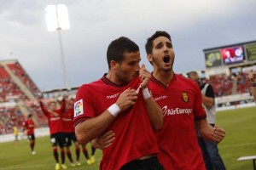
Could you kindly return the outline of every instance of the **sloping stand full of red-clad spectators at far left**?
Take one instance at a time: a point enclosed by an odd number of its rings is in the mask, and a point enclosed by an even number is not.
[[[35,101],[40,96],[38,87],[26,74],[18,60],[0,62],[0,134],[13,133],[13,126],[22,131],[22,122],[32,113],[37,127],[45,127],[47,120],[43,113],[28,101]]]

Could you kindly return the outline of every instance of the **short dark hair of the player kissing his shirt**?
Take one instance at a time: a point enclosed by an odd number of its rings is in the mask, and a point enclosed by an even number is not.
[[[110,69],[110,61],[114,60],[118,63],[124,59],[124,53],[133,53],[139,51],[139,47],[128,37],[119,37],[108,45],[107,60],[108,69]]]

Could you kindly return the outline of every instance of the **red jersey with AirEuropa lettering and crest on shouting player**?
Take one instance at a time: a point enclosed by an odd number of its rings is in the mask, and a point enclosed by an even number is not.
[[[195,131],[195,120],[207,116],[199,87],[174,75],[168,87],[152,77],[148,88],[164,115],[164,126],[155,133],[160,163],[168,170],[205,170]]]

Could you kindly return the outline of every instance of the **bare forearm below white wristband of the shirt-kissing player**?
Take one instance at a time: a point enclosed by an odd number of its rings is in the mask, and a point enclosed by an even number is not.
[[[96,139],[107,130],[113,120],[114,117],[107,110],[100,116],[80,122],[75,127],[75,133],[79,143],[87,144],[92,139]]]

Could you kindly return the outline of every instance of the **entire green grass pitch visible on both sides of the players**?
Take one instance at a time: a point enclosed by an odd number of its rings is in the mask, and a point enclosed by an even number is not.
[[[256,107],[217,113],[217,124],[219,127],[224,127],[226,131],[226,137],[218,148],[227,170],[253,169],[253,161],[237,161],[237,159],[240,156],[256,155],[255,122]],[[87,144],[87,148],[90,153],[90,144]],[[74,158],[73,147],[72,150]],[[37,139],[36,151],[37,154],[32,156],[26,139],[19,143],[0,143],[0,170],[53,170],[55,160],[51,152],[49,137]],[[97,170],[101,156],[101,150],[96,150],[96,163],[86,165],[84,155],[81,153],[81,167],[70,167],[67,157],[66,164],[68,169]]]

